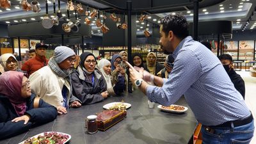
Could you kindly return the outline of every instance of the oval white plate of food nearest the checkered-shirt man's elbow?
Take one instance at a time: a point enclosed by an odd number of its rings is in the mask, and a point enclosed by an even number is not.
[[[159,105],[157,108],[161,109],[162,111],[170,112],[170,113],[184,113],[188,110],[186,106],[180,106],[172,104],[171,106],[162,106]]]

